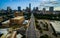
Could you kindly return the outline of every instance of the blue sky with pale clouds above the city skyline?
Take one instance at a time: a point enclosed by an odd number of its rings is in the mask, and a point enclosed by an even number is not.
[[[22,9],[25,9],[31,3],[31,8],[39,7],[39,9],[48,8],[50,6],[54,7],[54,10],[60,10],[60,0],[0,0],[0,9],[17,9],[18,6],[21,6]]]

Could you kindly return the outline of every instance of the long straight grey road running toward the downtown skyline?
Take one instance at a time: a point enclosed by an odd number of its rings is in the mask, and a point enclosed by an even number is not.
[[[37,31],[35,27],[35,19],[33,14],[31,14],[30,24],[26,30],[26,38],[37,38]]]

